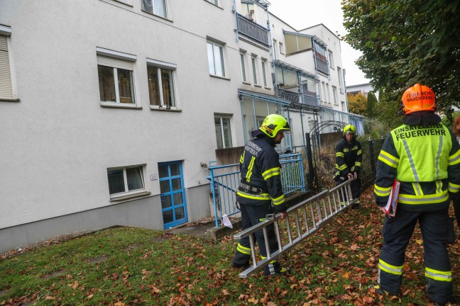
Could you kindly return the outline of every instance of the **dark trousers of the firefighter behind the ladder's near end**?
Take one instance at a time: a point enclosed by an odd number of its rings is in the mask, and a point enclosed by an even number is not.
[[[265,216],[272,213],[270,205],[247,205],[241,204],[241,228],[248,229],[253,225],[258,224],[262,220],[265,220]],[[263,231],[255,233],[256,241],[259,246],[262,258],[267,256],[267,250],[265,247],[265,238],[263,237]],[[267,227],[268,246],[270,247],[270,254],[278,251],[278,241],[275,236],[275,227],[270,225]],[[234,266],[246,266],[251,258],[251,244],[249,244],[249,237],[240,239],[238,246],[236,246],[236,252],[233,259]],[[278,261],[270,263],[265,266],[265,275],[274,274],[280,271],[280,264]]]

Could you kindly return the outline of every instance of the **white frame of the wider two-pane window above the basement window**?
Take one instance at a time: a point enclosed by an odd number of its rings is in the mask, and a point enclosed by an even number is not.
[[[119,51],[114,51],[114,50],[109,50],[109,49],[105,49],[105,48],[102,48],[102,47],[97,47],[96,48],[96,53],[97,53],[97,58],[98,58],[98,62],[99,62],[99,58],[104,58],[104,57],[107,57],[107,58],[114,58],[116,60],[121,60],[121,61],[124,61],[126,63],[128,62],[131,62],[132,64],[132,70],[131,70],[131,76],[132,76],[132,89],[131,89],[131,95],[132,95],[132,99],[133,99],[133,103],[121,103],[120,102],[120,94],[119,94],[119,83],[118,83],[118,69],[117,67],[111,67],[114,69],[114,86],[115,86],[115,99],[116,101],[113,102],[113,101],[100,101],[100,97],[99,97],[99,101],[101,103],[101,106],[106,106],[106,107],[117,107],[117,108],[140,108],[137,104],[137,101],[136,101],[136,82],[135,82],[135,78],[134,78],[134,62],[136,62],[137,60],[137,57],[136,55],[131,55],[131,54],[128,54],[128,53],[124,53],[124,52],[119,52]],[[99,63],[97,64],[99,66]],[[106,67],[110,67],[110,66],[106,66]],[[126,69],[128,70],[128,69]],[[99,78],[98,78],[98,82],[99,82]],[[100,86],[100,84],[99,84]]]

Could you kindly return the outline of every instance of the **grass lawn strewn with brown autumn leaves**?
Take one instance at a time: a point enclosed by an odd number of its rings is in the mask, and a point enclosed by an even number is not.
[[[425,295],[417,226],[407,247],[401,296],[376,283],[383,215],[371,190],[281,260],[288,277],[239,278],[236,242],[116,227],[0,259],[0,305],[432,305]],[[460,244],[449,246],[454,295]]]

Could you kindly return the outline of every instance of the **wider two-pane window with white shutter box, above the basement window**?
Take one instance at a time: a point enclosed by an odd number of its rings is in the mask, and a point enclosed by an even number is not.
[[[102,105],[135,105],[133,60],[136,60],[136,56],[102,48],[97,48],[97,53],[99,96]]]

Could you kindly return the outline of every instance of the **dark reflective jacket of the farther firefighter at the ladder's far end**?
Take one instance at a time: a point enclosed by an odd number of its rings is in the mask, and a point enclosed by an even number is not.
[[[337,176],[346,177],[346,174],[349,173],[356,172],[359,174],[362,161],[361,143],[356,139],[351,140],[351,143],[349,143],[345,138],[342,138],[336,145],[336,172],[334,173],[334,179]]]

